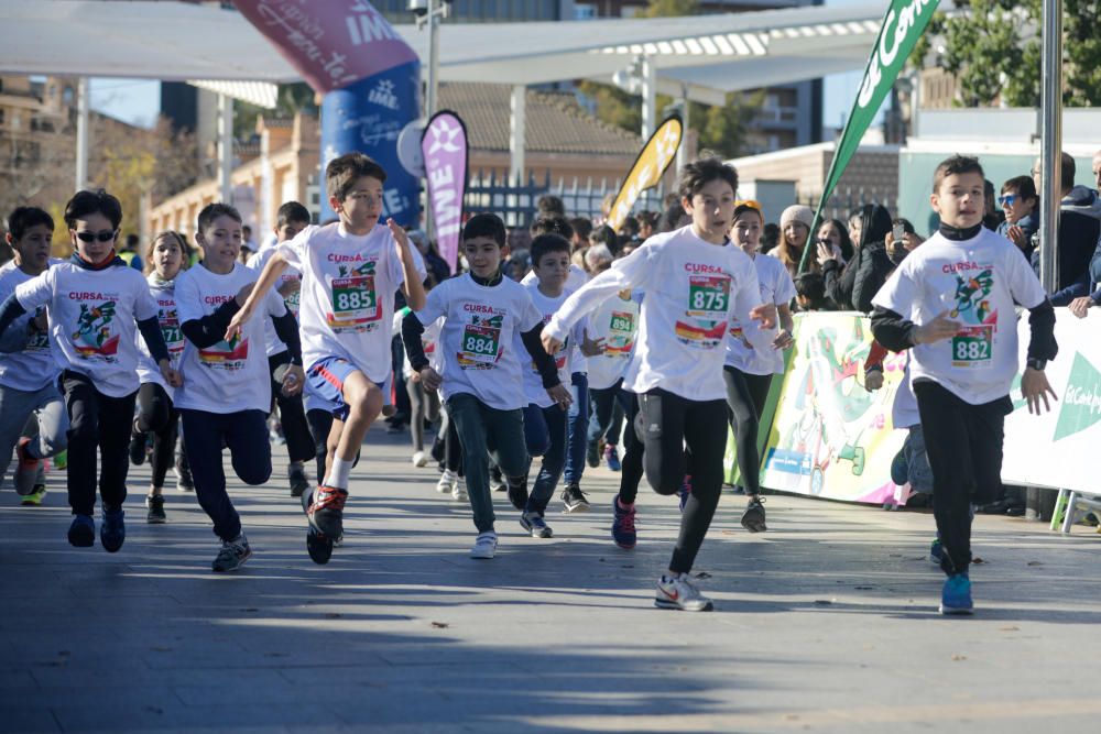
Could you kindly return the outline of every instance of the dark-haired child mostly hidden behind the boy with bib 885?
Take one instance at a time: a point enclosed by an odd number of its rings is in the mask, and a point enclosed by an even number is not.
[[[275,242],[271,247],[261,250],[249,258],[246,265],[253,271],[262,271],[272,255],[275,254],[275,247],[281,242],[290,242],[298,232],[309,227],[309,210],[297,201],[285,201],[280,206],[275,215]],[[302,275],[293,267],[283,271],[280,284],[275,291],[283,298],[286,308],[294,318],[298,318],[298,294],[302,289]],[[314,438],[309,432],[309,424],[306,421],[306,410],[302,404],[302,394],[296,392],[287,395],[281,387],[282,376],[291,364],[291,355],[286,344],[283,343],[270,324],[265,324],[264,332],[268,340],[268,370],[272,375],[272,396],[274,404],[279,405],[279,419],[286,438],[286,452],[291,462],[287,464],[287,480],[291,484],[291,496],[301,497],[302,493],[309,489],[309,480],[306,479],[305,462],[315,458]]]

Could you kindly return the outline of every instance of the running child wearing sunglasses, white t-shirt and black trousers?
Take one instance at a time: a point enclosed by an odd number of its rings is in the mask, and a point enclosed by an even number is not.
[[[116,254],[122,205],[107,191],[79,191],[65,206],[74,253],[19,285],[0,306],[0,335],[20,316],[47,306],[51,349],[68,410],[69,544],[96,543],[96,480],[102,499],[99,541],[117,552],[126,541],[127,447],[138,395],[140,330],[170,385],[181,384],[156,321],[156,303],[141,273]],[[96,471],[97,449],[101,473]]]

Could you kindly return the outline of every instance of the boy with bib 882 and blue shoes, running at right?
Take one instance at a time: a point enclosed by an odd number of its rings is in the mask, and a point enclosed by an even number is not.
[[[973,610],[971,505],[1001,487],[1010,385],[1017,374],[1016,304],[1031,311],[1021,381],[1029,413],[1055,397],[1044,374],[1058,352],[1055,309],[1021,252],[982,227],[984,177],[977,158],[937,166],[933,210],[940,230],[914,250],[875,295],[872,333],[911,349],[911,375],[933,469],[933,506],[947,574],[941,614]]]

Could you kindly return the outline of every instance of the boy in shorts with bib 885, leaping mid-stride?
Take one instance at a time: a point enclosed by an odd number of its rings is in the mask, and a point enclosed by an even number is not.
[[[386,172],[362,153],[347,153],[325,167],[329,206],[340,217],[326,227],[307,227],[281,242],[264,265],[253,292],[230,322],[227,336],[248,322],[260,300],[288,266],[302,273],[299,328],[306,362],[306,392],[326,405],[335,420],[329,460],[316,492],[303,494],[309,522],[307,550],[327,563],[344,536],[348,474],[367,430],[383,406],[391,377],[394,294],[410,308],[424,306],[426,273],[393,219],[378,227]]]

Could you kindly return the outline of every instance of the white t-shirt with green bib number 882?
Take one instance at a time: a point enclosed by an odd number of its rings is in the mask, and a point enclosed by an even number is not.
[[[1021,251],[981,229],[960,242],[934,234],[906,255],[872,304],[918,326],[942,311],[960,322],[956,337],[911,350],[911,374],[979,405],[1007,395],[1017,374],[1014,303],[1035,308],[1045,297]]]

